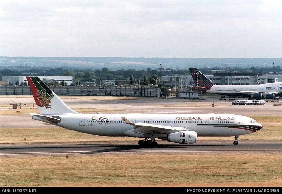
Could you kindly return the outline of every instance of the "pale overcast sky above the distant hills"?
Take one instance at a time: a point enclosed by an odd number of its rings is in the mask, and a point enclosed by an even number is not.
[[[281,0],[1,0],[0,56],[281,58]]]

